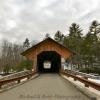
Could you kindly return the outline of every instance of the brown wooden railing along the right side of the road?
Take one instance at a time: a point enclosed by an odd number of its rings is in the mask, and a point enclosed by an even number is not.
[[[63,75],[66,75],[68,77],[72,77],[75,81],[78,80],[78,81],[82,82],[83,84],[85,84],[85,87],[92,87],[92,88],[100,91],[100,84],[88,80],[87,77],[79,77],[69,71],[61,71],[60,73]]]

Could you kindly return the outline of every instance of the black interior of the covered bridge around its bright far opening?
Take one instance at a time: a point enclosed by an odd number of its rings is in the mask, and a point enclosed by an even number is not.
[[[44,67],[44,62],[50,62],[50,68]],[[37,67],[40,73],[59,72],[61,67],[61,56],[55,51],[43,51],[37,56]]]

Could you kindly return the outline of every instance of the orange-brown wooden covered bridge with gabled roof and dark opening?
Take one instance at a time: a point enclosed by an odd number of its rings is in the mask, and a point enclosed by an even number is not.
[[[59,72],[61,70],[61,58],[67,59],[74,53],[48,37],[24,51],[22,55],[32,60],[34,71]],[[44,62],[48,61],[51,63],[51,67],[45,68]]]

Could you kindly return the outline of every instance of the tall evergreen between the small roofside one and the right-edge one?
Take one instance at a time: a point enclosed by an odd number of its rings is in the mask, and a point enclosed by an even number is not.
[[[76,53],[80,53],[80,46],[82,42],[82,29],[76,23],[72,23],[69,27],[69,48]]]

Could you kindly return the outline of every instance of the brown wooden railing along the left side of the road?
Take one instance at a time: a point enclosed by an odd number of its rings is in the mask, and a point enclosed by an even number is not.
[[[24,78],[30,79],[36,73],[37,72],[25,71],[25,72],[19,72],[19,73],[15,73],[13,75],[3,77],[0,79],[0,88],[2,88],[3,85],[11,83],[11,82],[20,83],[20,81]]]

